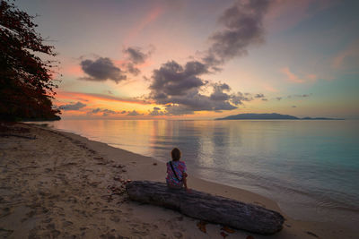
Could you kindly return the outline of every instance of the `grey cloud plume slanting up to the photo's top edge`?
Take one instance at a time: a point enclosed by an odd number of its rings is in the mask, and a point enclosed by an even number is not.
[[[223,29],[211,37],[211,47],[203,61],[209,65],[223,64],[234,56],[246,55],[250,45],[264,41],[263,17],[269,0],[236,1],[219,19]]]

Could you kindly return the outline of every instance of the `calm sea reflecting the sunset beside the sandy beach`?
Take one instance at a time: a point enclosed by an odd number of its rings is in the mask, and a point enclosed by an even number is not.
[[[51,125],[162,161],[179,147],[191,175],[267,196],[292,218],[355,226],[358,123],[61,120]]]

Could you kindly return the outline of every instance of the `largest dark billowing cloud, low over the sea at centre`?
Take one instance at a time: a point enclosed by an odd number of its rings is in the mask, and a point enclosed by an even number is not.
[[[200,76],[207,73],[206,65],[197,61],[180,65],[174,61],[162,64],[153,71],[150,98],[157,104],[165,105],[167,115],[188,115],[195,111],[232,110],[242,101],[250,101],[241,92],[231,93],[225,83],[204,81]],[[204,87],[212,88],[209,96],[201,93]],[[156,114],[157,112],[153,112]]]

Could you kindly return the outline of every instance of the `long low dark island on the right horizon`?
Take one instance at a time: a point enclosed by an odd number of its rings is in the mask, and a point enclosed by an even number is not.
[[[216,118],[215,120],[344,120],[336,118],[325,118],[325,117],[303,117],[298,118],[293,115],[281,115],[281,114],[240,114],[240,115],[230,115],[223,118]]]

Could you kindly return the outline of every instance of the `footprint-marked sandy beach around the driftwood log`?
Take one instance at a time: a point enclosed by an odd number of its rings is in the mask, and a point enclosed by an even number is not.
[[[294,220],[275,201],[189,175],[190,188],[274,209],[286,219],[283,230],[270,236],[214,224],[201,231],[195,218],[128,200],[128,180],[165,181],[162,162],[45,126],[3,124],[0,172],[1,238],[357,238],[358,233]]]

